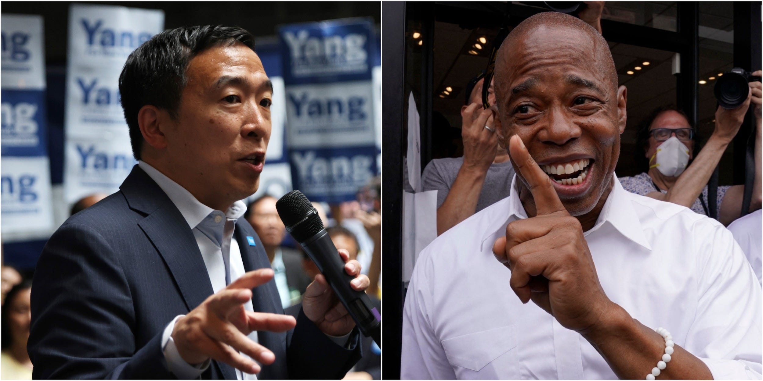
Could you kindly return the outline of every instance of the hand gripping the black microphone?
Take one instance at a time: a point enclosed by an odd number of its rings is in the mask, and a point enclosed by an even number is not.
[[[344,271],[355,277],[349,283],[350,287],[356,291],[369,288],[369,277],[360,274],[359,262],[354,259],[349,261],[349,252],[345,249],[340,248],[337,251],[345,262]],[[302,310],[307,319],[314,322],[326,335],[343,336],[355,328],[353,317],[331,290],[324,274],[317,274],[313,283],[307,286],[302,296]]]

